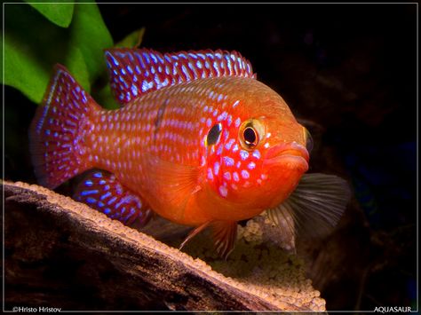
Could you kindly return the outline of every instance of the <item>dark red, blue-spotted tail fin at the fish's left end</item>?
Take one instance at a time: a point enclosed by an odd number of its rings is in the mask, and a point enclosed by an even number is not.
[[[39,184],[55,188],[90,168],[84,134],[90,131],[88,115],[96,106],[68,70],[56,65],[29,130],[29,150]]]

